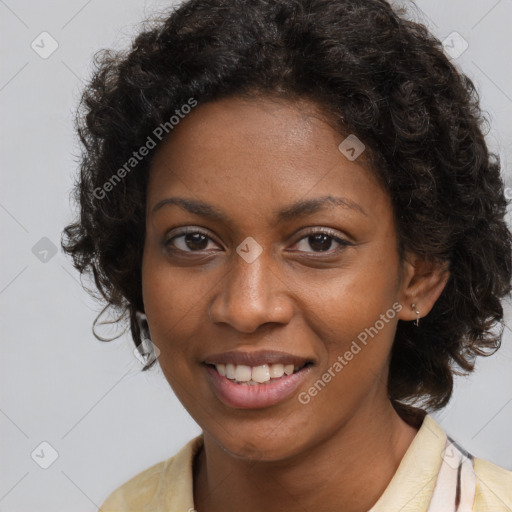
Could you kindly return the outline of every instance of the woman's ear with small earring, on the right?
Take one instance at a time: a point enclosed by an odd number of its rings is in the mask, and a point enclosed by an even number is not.
[[[398,318],[406,321],[423,318],[429,314],[446,286],[450,277],[449,262],[428,261],[407,253],[403,265],[399,295],[403,307]]]

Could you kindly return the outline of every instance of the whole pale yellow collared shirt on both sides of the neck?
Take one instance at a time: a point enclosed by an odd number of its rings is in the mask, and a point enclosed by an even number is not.
[[[99,512],[193,512],[193,461],[202,435],[112,492]],[[512,512],[512,472],[473,458],[426,415],[369,512]]]

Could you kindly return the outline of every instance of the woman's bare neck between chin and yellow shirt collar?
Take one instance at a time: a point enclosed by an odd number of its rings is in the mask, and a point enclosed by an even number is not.
[[[235,459],[205,433],[194,467],[194,505],[208,512],[339,512],[340,505],[344,512],[367,511],[416,433],[389,401],[380,411],[358,411],[321,443],[283,461]]]

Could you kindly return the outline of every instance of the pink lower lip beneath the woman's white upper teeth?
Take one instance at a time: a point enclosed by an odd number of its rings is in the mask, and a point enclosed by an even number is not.
[[[219,400],[238,409],[261,409],[282,402],[304,382],[310,366],[291,375],[271,379],[264,384],[237,384],[223,377],[214,367],[205,366],[209,381]]]

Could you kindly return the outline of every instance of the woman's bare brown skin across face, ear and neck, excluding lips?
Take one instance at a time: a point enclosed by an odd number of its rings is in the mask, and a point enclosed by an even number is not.
[[[198,105],[155,154],[143,298],[161,368],[204,432],[198,511],[367,511],[417,433],[387,397],[389,354],[398,319],[417,318],[411,303],[428,314],[448,275],[413,254],[400,261],[390,198],[364,153],[349,161],[338,150],[344,138],[306,100],[231,97]],[[328,195],[358,207],[276,222],[281,208]],[[176,196],[227,220],[170,204],[153,211]],[[186,226],[207,238],[170,241]],[[351,245],[322,245],[310,228]],[[236,252],[248,236],[263,248],[250,264]],[[306,405],[294,393],[229,407],[201,364],[234,349],[297,354],[314,362],[298,390],[307,391],[394,303],[400,312]]]

